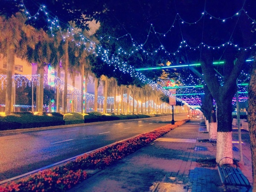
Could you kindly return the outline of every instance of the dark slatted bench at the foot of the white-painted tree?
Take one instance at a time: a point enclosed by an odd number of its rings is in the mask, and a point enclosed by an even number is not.
[[[237,165],[224,164],[220,166],[218,163],[218,173],[224,185],[245,186],[247,189],[251,187],[249,180],[244,176]]]

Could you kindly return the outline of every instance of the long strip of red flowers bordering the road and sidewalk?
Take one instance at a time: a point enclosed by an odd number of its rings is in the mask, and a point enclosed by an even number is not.
[[[65,191],[87,178],[87,173],[82,170],[103,169],[105,166],[126,157],[128,154],[151,143],[188,120],[189,119],[185,119],[183,121],[175,122],[175,125],[166,125],[157,128],[154,131],[113,143],[89,154],[77,157],[76,160],[70,161],[64,166],[43,170],[34,175],[30,175],[25,179],[3,184],[0,186],[0,192]]]

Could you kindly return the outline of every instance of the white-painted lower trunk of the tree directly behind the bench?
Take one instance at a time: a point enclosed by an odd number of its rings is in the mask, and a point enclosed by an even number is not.
[[[216,162],[220,165],[233,164],[232,131],[217,133]]]

